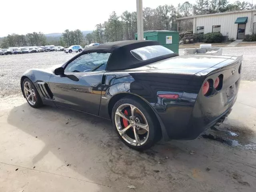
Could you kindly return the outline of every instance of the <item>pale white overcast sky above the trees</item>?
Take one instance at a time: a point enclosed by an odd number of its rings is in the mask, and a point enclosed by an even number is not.
[[[143,0],[143,7],[178,6],[196,0]],[[229,0],[234,2],[235,0]],[[249,0],[246,0],[249,1]],[[251,0],[250,0],[251,2]],[[0,37],[31,32],[62,33],[64,30],[94,30],[95,25],[118,15],[136,11],[136,0],[1,0]]]

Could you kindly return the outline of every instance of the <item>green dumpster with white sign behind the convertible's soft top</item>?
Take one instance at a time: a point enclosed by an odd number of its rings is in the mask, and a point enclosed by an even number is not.
[[[138,39],[138,33],[135,34],[135,39]],[[158,41],[162,46],[179,53],[179,32],[178,31],[144,31],[144,40]]]

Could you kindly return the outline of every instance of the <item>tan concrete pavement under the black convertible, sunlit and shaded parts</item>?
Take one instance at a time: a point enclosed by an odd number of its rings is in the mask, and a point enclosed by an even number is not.
[[[0,191],[256,191],[254,87],[241,82],[220,126],[238,134],[238,146],[199,137],[145,152],[126,147],[107,120],[0,98]]]

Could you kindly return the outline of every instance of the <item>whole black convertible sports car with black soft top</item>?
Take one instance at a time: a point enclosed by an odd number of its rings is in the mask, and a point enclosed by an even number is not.
[[[30,106],[112,120],[126,145],[144,150],[219,125],[236,101],[241,63],[242,56],[178,56],[155,41],[120,41],[87,48],[62,66],[28,70],[20,84]]]

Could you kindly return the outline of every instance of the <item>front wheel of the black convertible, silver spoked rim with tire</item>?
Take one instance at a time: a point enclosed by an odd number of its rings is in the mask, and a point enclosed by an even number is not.
[[[25,78],[22,87],[25,98],[30,106],[39,108],[43,105],[42,99],[30,79]]]

